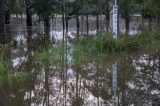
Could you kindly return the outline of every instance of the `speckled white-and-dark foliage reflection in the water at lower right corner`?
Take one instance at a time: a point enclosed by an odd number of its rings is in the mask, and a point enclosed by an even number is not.
[[[153,102],[152,98],[160,95],[159,56],[159,52],[156,52],[145,54],[134,60],[133,66],[136,73],[128,82],[129,89],[126,101],[139,106]]]

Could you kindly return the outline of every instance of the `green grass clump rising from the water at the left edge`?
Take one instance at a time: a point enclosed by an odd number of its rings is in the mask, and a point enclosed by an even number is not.
[[[13,87],[27,79],[27,72],[14,72],[12,64],[4,58],[4,49],[0,49],[0,88]]]

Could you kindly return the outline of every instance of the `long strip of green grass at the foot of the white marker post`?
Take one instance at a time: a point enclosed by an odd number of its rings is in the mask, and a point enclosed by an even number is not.
[[[107,55],[113,52],[133,52],[140,48],[157,44],[160,41],[160,29],[141,33],[134,36],[121,35],[117,40],[113,39],[111,34],[103,33],[101,36],[78,39],[74,49],[83,51],[83,54]]]

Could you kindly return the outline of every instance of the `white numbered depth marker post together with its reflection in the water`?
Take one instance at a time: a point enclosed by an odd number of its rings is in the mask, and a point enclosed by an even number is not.
[[[117,0],[114,1],[113,10],[112,10],[112,36],[114,39],[117,39],[118,35],[118,6]],[[117,106],[117,62],[112,65],[112,90],[114,92],[114,106]]]

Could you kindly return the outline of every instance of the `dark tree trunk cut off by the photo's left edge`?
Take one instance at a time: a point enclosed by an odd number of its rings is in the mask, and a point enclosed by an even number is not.
[[[4,12],[4,3],[0,3],[0,44],[4,43],[4,24],[5,24],[5,12]]]

